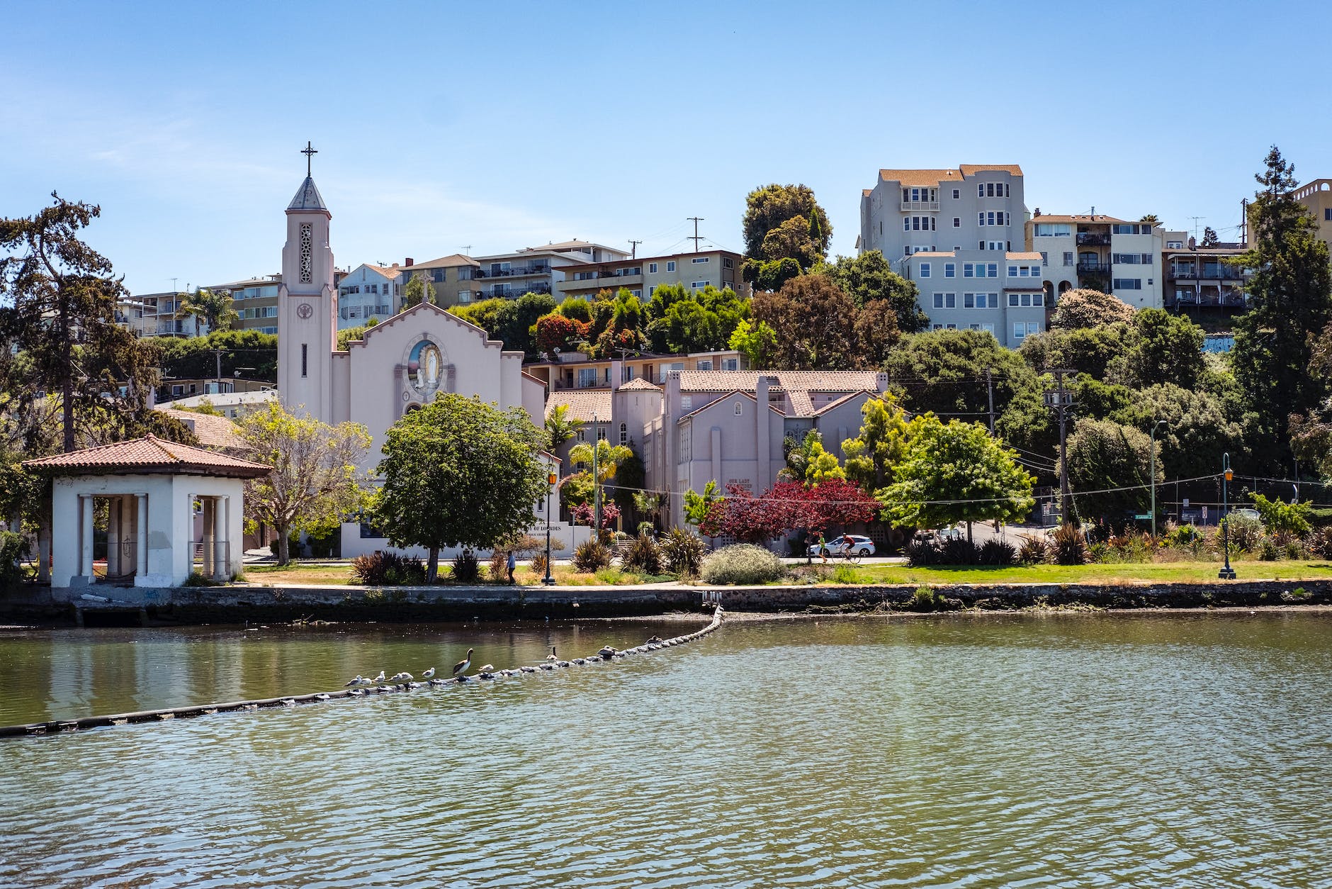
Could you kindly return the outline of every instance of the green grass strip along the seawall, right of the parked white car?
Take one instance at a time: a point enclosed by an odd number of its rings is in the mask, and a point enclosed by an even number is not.
[[[1232,561],[1239,580],[1313,580],[1332,577],[1328,561]],[[1016,568],[908,568],[842,565],[822,582],[843,584],[1115,584],[1132,581],[1215,581],[1221,562],[1112,565],[1030,565]]]

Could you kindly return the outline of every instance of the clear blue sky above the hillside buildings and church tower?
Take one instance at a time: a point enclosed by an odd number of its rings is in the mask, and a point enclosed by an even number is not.
[[[1271,144],[1332,176],[1332,4],[11,3],[0,216],[97,203],[133,292],[276,272],[305,172],[340,267],[582,237],[741,249],[805,183],[1018,163],[1044,212],[1235,236]],[[1201,228],[1199,228],[1201,231]]]

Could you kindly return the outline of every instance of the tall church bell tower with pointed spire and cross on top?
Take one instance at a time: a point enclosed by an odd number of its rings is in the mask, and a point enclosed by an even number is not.
[[[310,176],[309,143],[305,181],[286,207],[282,284],[277,291],[277,391],[288,411],[322,423],[333,420],[333,349],[337,343],[337,288],[329,220]]]

